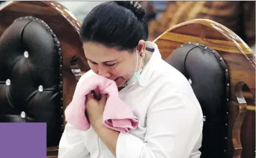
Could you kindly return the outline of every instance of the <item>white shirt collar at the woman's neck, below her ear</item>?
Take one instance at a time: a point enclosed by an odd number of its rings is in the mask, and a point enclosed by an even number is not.
[[[144,66],[142,74],[138,80],[140,86],[146,86],[154,73],[154,66],[157,64],[159,59],[162,59],[161,54],[158,50],[157,44],[153,42],[146,42],[146,51],[153,53],[149,62]]]

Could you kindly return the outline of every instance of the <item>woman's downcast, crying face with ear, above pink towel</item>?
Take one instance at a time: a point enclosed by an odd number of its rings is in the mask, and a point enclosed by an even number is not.
[[[92,71],[99,76],[114,80],[119,88],[135,73],[136,53],[138,54],[137,70],[139,70],[140,61],[143,61],[142,58],[145,56],[146,42],[140,40],[138,50],[134,52],[120,51],[115,48],[108,48],[103,44],[92,42],[84,43],[83,47],[84,54]],[[143,54],[143,57],[140,54]]]

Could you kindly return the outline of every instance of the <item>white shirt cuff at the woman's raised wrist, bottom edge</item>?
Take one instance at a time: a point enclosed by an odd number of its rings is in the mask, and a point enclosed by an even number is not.
[[[132,134],[120,133],[117,138],[117,158],[139,158],[144,142]]]

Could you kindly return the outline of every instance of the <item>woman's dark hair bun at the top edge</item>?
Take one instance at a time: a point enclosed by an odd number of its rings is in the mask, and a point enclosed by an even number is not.
[[[132,12],[135,14],[136,17],[138,17],[139,20],[142,20],[142,18],[145,15],[145,10],[142,8],[142,6],[139,4],[138,1],[115,1],[118,5],[124,6],[129,10],[132,10]]]

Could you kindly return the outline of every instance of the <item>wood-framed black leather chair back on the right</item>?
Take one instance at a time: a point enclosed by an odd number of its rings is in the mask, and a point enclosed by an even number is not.
[[[176,25],[154,42],[201,103],[201,157],[255,157],[255,55],[247,44],[204,19]]]

